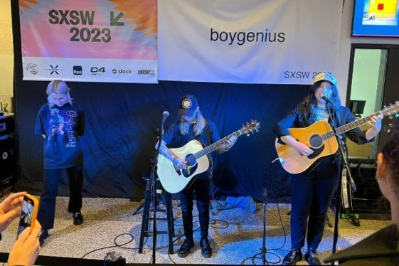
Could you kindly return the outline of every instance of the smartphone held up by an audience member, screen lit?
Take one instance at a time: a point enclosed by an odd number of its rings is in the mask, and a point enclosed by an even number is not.
[[[18,233],[16,238],[19,238],[22,231],[28,226],[34,226],[36,217],[38,216],[39,201],[36,197],[26,194],[23,196],[21,216],[19,217]]]

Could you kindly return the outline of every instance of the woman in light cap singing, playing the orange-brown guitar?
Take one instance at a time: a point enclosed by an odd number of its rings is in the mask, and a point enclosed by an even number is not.
[[[316,75],[309,95],[289,115],[275,124],[273,131],[279,142],[292,147],[298,157],[312,158],[316,155],[314,153],[321,151],[311,149],[307,144],[297,141],[297,137],[292,137],[290,134],[290,128],[309,127],[323,120],[331,122],[327,108],[331,110],[335,127],[355,120],[351,111],[341,106],[336,86],[336,77],[331,73]],[[349,137],[357,144],[373,142],[381,129],[382,118],[382,115],[370,117],[368,123],[371,128],[367,131],[355,127],[341,136],[344,140]],[[301,249],[304,247],[305,236],[307,237],[305,259],[309,265],[320,265],[316,250],[323,237],[327,209],[339,183],[339,160],[336,156],[327,156],[317,163],[307,171],[291,176],[291,251],[284,257],[283,265],[295,265],[302,260]]]

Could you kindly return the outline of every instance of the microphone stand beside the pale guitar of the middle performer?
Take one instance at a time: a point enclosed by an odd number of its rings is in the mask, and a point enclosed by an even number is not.
[[[156,147],[155,154],[154,154],[154,164],[151,167],[151,174],[149,175],[149,183],[151,183],[151,200],[152,200],[152,207],[153,207],[153,215],[152,215],[152,264],[155,264],[155,250],[156,250],[156,207],[158,206],[157,196],[156,196],[156,176],[155,170],[158,164],[158,155],[159,155],[159,147],[161,147],[162,137],[164,135],[164,122],[166,117],[162,118],[161,123],[161,133],[159,134],[159,141],[158,146]]]

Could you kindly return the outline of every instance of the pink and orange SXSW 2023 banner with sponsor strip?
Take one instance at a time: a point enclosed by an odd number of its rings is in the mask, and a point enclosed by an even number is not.
[[[156,0],[19,0],[23,80],[157,83]]]

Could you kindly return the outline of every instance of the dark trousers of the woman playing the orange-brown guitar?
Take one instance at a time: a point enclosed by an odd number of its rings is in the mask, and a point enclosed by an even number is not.
[[[300,250],[305,236],[308,248],[316,250],[324,233],[326,213],[338,187],[336,164],[327,158],[309,174],[291,176],[291,247]]]

